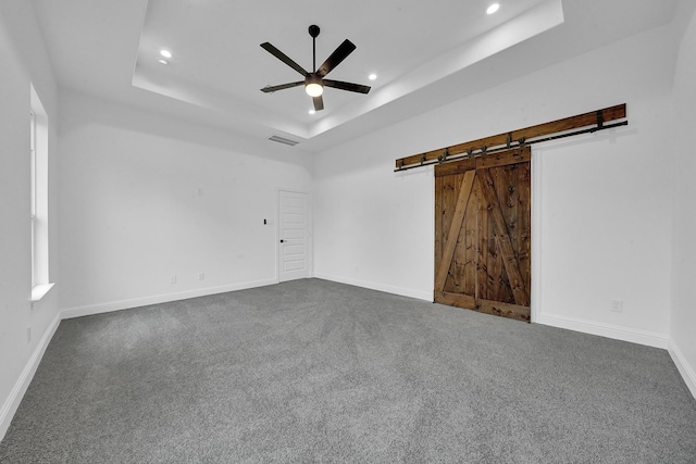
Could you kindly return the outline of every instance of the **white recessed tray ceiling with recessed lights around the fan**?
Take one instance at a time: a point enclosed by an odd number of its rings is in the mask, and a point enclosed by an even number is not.
[[[493,0],[34,3],[62,88],[321,151],[664,24],[676,0],[498,1],[494,15],[485,13]],[[302,79],[260,43],[311,71],[311,24],[321,27],[318,64],[344,39],[357,46],[328,77],[372,86],[366,96],[327,88],[325,110],[314,115],[301,86],[260,91]],[[169,65],[157,63],[161,48],[174,54]],[[501,60],[515,73],[490,73]]]

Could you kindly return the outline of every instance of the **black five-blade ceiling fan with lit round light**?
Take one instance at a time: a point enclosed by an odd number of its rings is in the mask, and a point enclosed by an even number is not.
[[[352,53],[352,51],[356,49],[356,46],[348,39],[344,40],[344,42],[339,45],[338,48],[334,50],[334,52],[326,59],[324,64],[316,67],[316,36],[319,36],[319,26],[309,26],[309,35],[312,36],[312,68],[316,70],[312,73],[308,73],[307,71],[304,71],[302,66],[294,62],[288,55],[283,53],[277,48],[273,47],[271,43],[261,43],[261,47],[269,53],[281,60],[283,63],[287,64],[304,77],[304,80],[298,80],[297,83],[282,84],[279,86],[266,86],[261,89],[262,92],[269,93],[276,90],[289,89],[291,87],[304,85],[304,91],[307,91],[307,95],[312,97],[312,100],[314,101],[314,111],[321,111],[324,109],[324,100],[322,98],[324,86],[358,93],[368,93],[370,91],[369,86],[324,78],[328,73],[332,72],[334,67],[338,66],[341,61],[344,61],[350,53]]]

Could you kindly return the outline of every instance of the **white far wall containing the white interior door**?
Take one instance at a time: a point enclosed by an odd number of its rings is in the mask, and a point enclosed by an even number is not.
[[[310,191],[309,155],[74,92],[60,116],[64,316],[277,281],[277,189]]]

